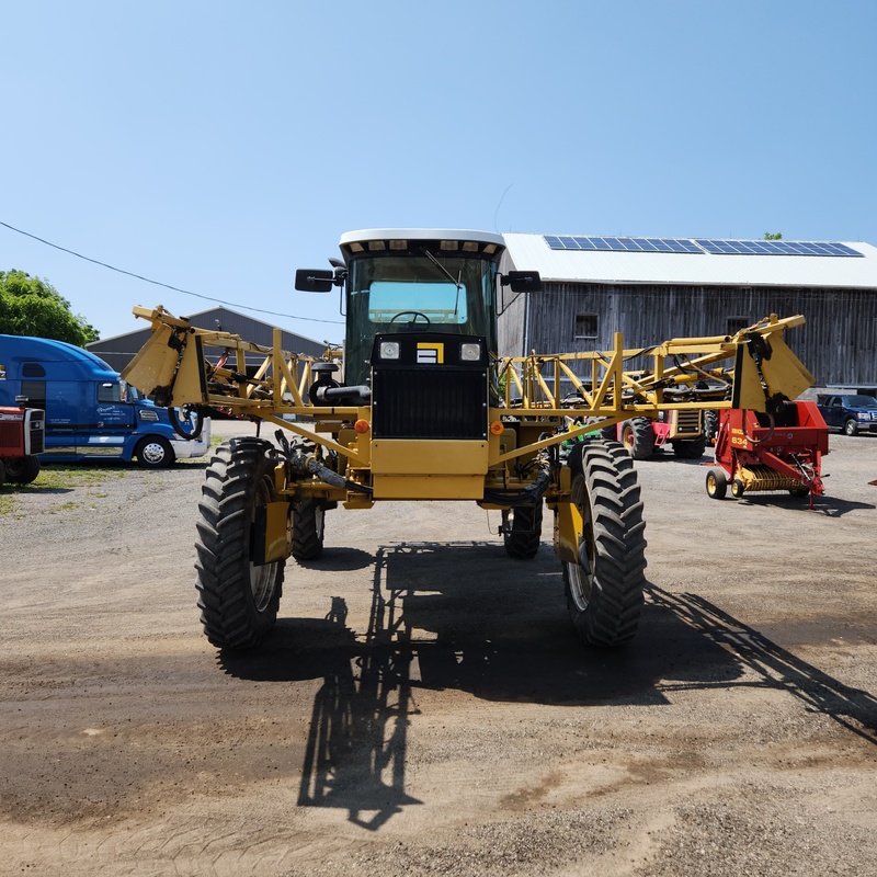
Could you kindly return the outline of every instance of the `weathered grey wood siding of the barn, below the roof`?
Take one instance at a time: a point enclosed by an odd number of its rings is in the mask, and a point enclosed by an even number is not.
[[[626,348],[646,346],[725,334],[731,319],[802,314],[807,324],[786,341],[818,384],[877,385],[877,289],[543,283],[500,317],[503,355],[608,350],[615,332]],[[596,339],[574,337],[583,314],[596,315]]]

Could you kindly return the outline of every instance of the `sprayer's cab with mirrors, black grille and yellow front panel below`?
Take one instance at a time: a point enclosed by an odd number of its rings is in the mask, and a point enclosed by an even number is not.
[[[482,499],[498,285],[537,292],[538,274],[500,276],[505,244],[485,231],[368,229],[340,248],[333,271],[296,273],[300,291],[343,287],[346,314],[343,385],[326,374],[311,400],[371,406],[374,499]]]

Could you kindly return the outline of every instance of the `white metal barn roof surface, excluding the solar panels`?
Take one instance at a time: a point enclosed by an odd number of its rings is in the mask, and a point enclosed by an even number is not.
[[[877,288],[877,248],[863,242],[843,241],[863,253],[858,259],[553,250],[543,235],[503,238],[515,267],[546,281]]]

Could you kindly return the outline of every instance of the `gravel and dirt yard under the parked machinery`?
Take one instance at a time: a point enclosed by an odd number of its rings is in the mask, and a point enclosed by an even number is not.
[[[877,873],[877,437],[831,451],[815,511],[637,463],[611,653],[548,516],[514,561],[474,504],[332,512],[234,656],[195,607],[204,462],[4,489],[0,874]]]

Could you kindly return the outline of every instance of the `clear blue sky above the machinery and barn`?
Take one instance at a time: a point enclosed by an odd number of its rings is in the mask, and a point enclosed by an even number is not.
[[[877,243],[874,0],[0,5],[0,270],[104,339],[293,289],[343,231]],[[272,316],[250,310],[275,311]]]

